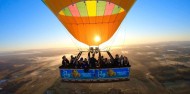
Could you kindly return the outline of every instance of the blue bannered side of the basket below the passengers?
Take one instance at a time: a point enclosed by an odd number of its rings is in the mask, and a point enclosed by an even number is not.
[[[104,83],[129,81],[130,67],[89,69],[60,69],[62,82]]]

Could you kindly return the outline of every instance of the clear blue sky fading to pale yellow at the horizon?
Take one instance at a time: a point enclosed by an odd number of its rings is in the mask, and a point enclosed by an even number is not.
[[[103,46],[190,41],[190,0],[137,0]],[[41,0],[0,0],[0,51],[85,46]]]

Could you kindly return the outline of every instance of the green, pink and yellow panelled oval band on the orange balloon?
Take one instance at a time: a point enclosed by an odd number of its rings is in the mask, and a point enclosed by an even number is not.
[[[59,15],[73,17],[95,17],[119,14],[125,10],[109,1],[80,1],[60,10]]]

